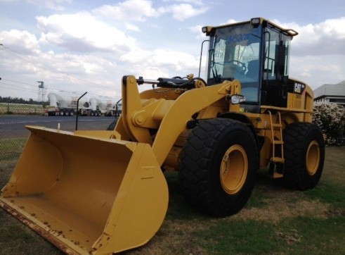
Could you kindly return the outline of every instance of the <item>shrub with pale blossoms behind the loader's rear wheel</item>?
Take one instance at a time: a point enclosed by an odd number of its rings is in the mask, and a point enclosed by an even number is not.
[[[339,104],[315,103],[313,123],[327,136],[327,144],[340,145],[345,135],[345,108]]]

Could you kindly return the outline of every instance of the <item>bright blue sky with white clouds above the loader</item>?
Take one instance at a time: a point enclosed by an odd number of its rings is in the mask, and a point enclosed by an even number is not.
[[[344,0],[0,0],[0,96],[116,101],[124,75],[197,75],[203,26],[256,17],[299,32],[290,77],[312,89],[345,80]]]

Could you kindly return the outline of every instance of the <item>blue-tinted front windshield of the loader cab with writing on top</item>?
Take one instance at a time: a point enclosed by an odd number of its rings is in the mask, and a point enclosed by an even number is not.
[[[218,28],[210,37],[209,85],[240,80],[246,101],[259,101],[261,25],[242,23]]]

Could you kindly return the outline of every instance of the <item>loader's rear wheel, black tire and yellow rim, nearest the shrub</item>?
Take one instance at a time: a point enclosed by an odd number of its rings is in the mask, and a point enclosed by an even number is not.
[[[323,133],[312,123],[292,123],[284,130],[284,175],[286,187],[313,189],[323,173]]]

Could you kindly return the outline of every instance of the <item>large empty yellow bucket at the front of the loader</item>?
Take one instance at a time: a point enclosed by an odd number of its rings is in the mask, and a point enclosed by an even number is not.
[[[112,254],[155,235],[167,182],[150,144],[27,126],[0,205],[67,254]]]

